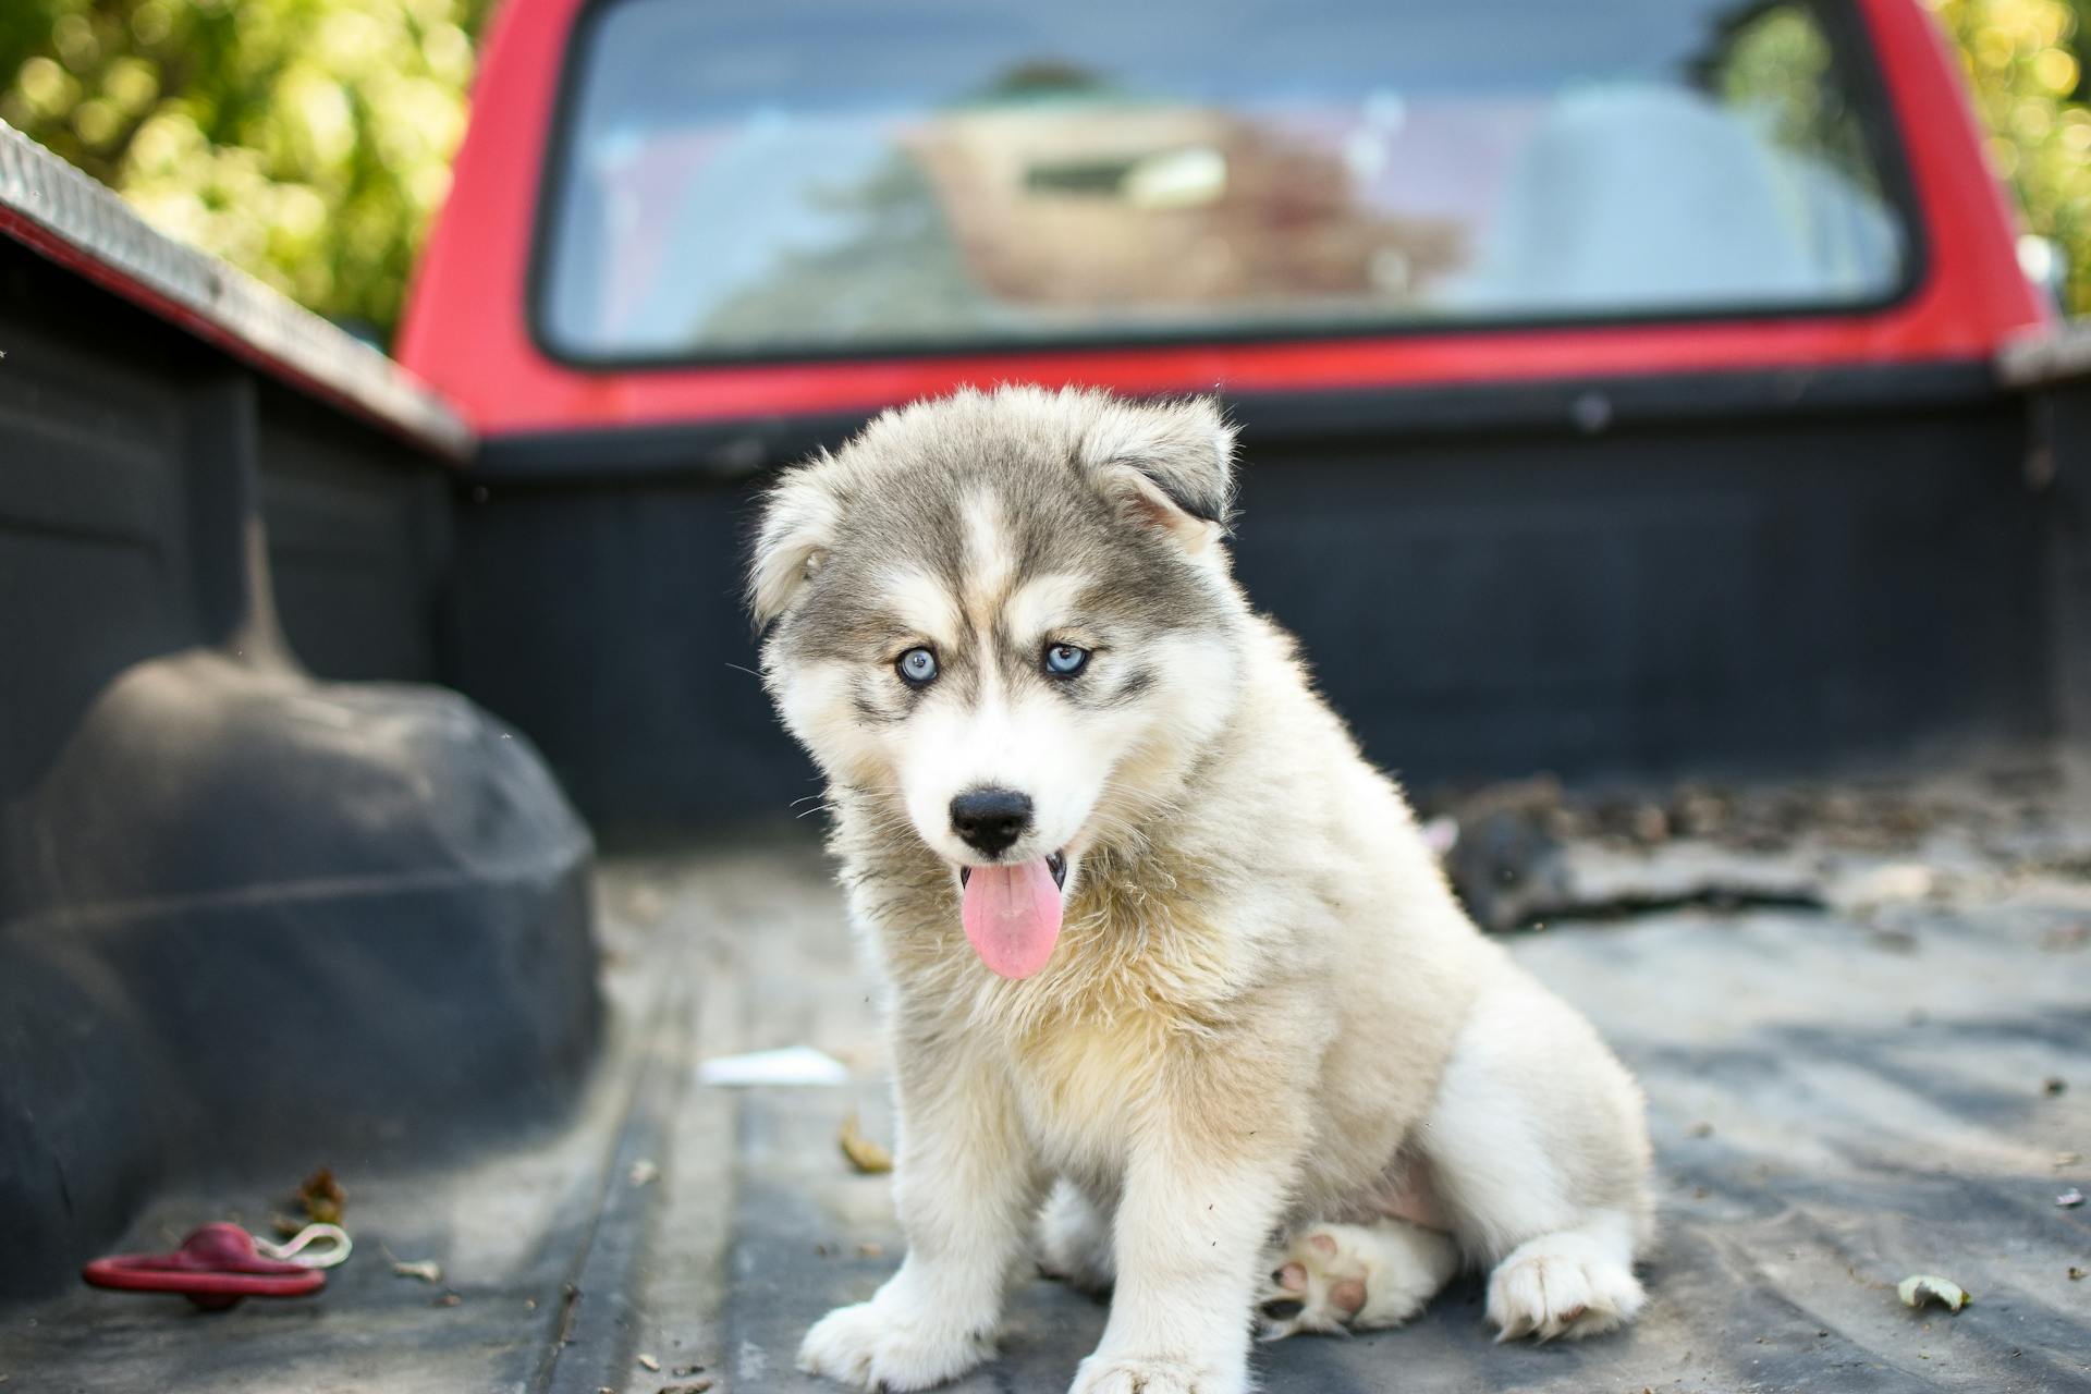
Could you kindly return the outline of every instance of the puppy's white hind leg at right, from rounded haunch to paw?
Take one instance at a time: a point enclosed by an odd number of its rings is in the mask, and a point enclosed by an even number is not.
[[[1598,1335],[1641,1310],[1646,1106],[1566,1003],[1522,972],[1491,986],[1420,1143],[1462,1248],[1495,1264],[1497,1340]]]

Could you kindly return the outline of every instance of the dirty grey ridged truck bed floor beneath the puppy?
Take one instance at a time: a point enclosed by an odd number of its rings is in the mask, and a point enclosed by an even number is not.
[[[1407,1329],[1259,1350],[1263,1386],[2091,1390],[2091,1208],[2058,1204],[2091,1185],[2091,811],[1993,792],[1957,809],[1905,846],[1798,830],[1775,855],[1813,869],[1821,907],[1627,897],[1510,936],[1648,1089],[1662,1241],[1631,1329],[1497,1346],[1470,1275]],[[1560,853],[1614,880],[1639,859],[1673,888],[1679,867],[1750,865],[1700,838],[1621,853],[1589,832]],[[420,1172],[316,1156],[358,1241],[322,1296],[13,1308],[6,1394],[824,1388],[792,1369],[801,1333],[901,1254],[889,1179],[836,1145],[851,1112],[878,1141],[891,1118],[828,867],[807,838],[705,844],[611,857],[598,897],[613,1024],[571,1124]],[[784,1045],[851,1083],[696,1078]],[[123,1248],[213,1218],[261,1229],[295,1181],[163,1198]],[[1905,1308],[1894,1285],[1915,1273],[1972,1306]],[[1098,1302],[1025,1281],[1002,1358],[953,1388],[1060,1390],[1102,1325]]]

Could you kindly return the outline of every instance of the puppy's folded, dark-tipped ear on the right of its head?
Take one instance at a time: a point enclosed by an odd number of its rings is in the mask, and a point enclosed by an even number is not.
[[[1083,439],[1083,460],[1138,520],[1190,552],[1227,535],[1234,426],[1211,397],[1115,403]]]

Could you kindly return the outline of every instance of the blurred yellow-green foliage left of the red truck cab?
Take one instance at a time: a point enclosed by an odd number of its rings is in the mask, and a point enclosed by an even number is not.
[[[381,334],[489,0],[0,0],[0,119],[155,226]]]

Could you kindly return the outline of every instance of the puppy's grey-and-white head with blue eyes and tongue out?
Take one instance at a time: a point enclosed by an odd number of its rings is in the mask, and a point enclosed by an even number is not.
[[[949,863],[1006,976],[1043,966],[1083,853],[1135,834],[1234,706],[1232,458],[1211,401],[966,391],[880,416],[763,504],[772,700]]]

